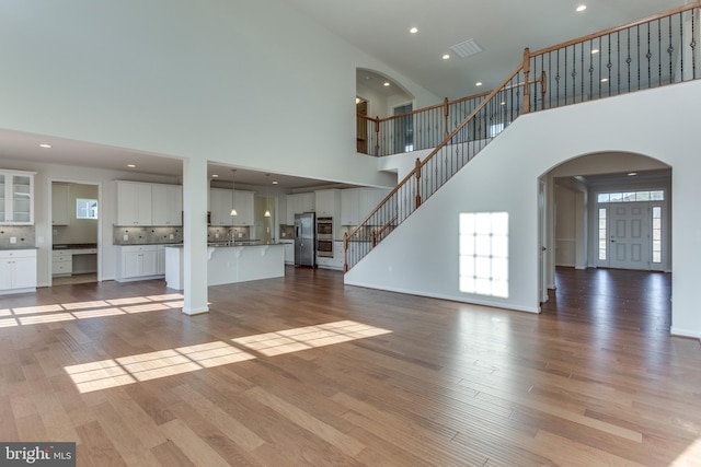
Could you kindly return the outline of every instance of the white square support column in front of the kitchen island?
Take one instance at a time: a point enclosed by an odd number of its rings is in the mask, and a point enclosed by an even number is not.
[[[209,312],[207,306],[207,161],[183,161],[183,253],[185,304],[183,313]]]

